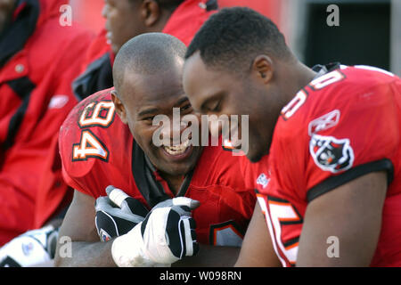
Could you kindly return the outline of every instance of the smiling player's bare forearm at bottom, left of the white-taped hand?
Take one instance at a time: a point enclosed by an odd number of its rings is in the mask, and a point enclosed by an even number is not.
[[[108,242],[71,242],[70,254],[67,249],[58,248],[54,265],[58,267],[114,267],[111,256],[111,244]]]

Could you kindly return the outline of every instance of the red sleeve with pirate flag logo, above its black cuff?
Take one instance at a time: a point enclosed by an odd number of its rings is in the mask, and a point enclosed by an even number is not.
[[[291,182],[309,202],[370,172],[387,171],[390,183],[399,161],[400,86],[396,76],[351,67],[313,80],[298,95],[306,106],[299,103],[293,118],[284,110],[277,130],[280,153],[291,150],[281,184]]]

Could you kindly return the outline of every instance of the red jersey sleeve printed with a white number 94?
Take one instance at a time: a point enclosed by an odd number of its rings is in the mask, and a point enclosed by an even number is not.
[[[103,162],[110,160],[110,147],[102,129],[110,126],[115,118],[109,91],[80,102],[62,124],[59,135],[64,181],[94,198],[105,195],[104,185],[109,183],[103,173],[108,170],[102,167]]]

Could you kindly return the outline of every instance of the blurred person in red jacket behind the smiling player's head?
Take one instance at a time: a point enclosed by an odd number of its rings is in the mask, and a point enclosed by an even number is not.
[[[130,38],[163,32],[189,45],[212,12],[217,0],[106,0],[102,16],[106,27],[94,40],[73,85],[79,99],[113,85],[114,56]]]

